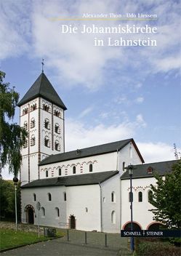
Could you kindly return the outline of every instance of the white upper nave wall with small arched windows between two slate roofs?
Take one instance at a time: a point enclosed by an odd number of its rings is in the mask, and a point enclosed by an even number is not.
[[[73,159],[68,161],[61,161],[55,164],[46,164],[40,166],[41,178],[45,178],[45,171],[47,169],[55,169],[55,177],[58,176],[58,169],[61,169],[62,176],[73,175],[73,166],[76,167],[76,174],[81,175],[85,173],[94,173],[94,172],[105,172],[116,170],[117,163],[117,153],[106,153],[97,156],[89,156],[81,159]],[[92,164],[92,172],[89,172],[89,164]],[[50,177],[50,176],[49,176]]]

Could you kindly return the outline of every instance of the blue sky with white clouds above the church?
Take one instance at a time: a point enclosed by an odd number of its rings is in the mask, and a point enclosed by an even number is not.
[[[65,111],[65,151],[134,138],[145,162],[181,151],[180,2],[0,0],[0,70],[20,98],[44,73]],[[84,19],[84,14],[136,19]],[[139,20],[139,14],[156,19]],[[135,17],[135,16],[134,16]],[[62,25],[79,33],[63,33]],[[156,34],[80,33],[86,26],[156,27]],[[156,39],[156,47],[94,46],[94,38]],[[19,123],[19,109],[15,122]],[[2,172],[9,178],[8,170]]]

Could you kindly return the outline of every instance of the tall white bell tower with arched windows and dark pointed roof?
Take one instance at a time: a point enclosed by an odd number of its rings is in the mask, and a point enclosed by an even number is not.
[[[65,151],[64,111],[67,108],[43,71],[17,105],[20,126],[28,132],[21,151],[20,181],[24,185],[39,179],[41,160]]]

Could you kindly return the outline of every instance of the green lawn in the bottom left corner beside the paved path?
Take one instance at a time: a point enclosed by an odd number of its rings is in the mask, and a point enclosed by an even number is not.
[[[58,232],[57,236],[63,236],[63,233]],[[49,237],[41,235],[38,237],[38,233],[15,231],[12,229],[0,229],[0,249],[7,249],[11,247],[17,247],[23,244],[33,244],[37,241],[47,241]]]

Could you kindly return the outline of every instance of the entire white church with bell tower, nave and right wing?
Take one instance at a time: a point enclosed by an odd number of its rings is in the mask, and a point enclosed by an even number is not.
[[[18,106],[28,132],[20,170],[23,223],[119,233],[130,228],[133,199],[134,228],[158,225],[148,211],[150,184],[155,170],[164,176],[174,161],[144,164],[132,138],[65,152],[67,108],[44,72]]]

